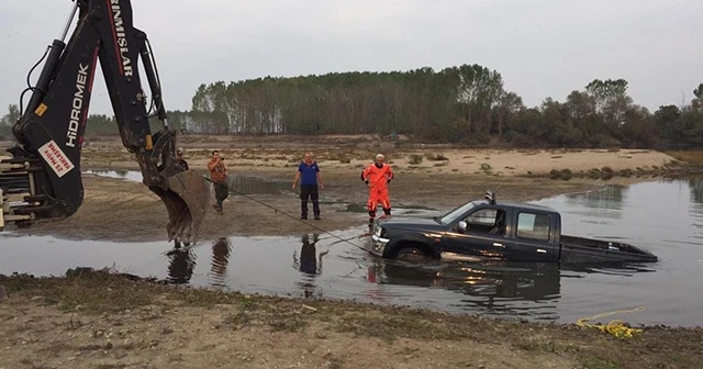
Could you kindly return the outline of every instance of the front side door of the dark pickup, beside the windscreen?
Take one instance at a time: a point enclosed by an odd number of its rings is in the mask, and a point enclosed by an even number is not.
[[[505,210],[483,206],[472,210],[460,219],[466,227],[457,223],[443,239],[443,250],[489,258],[503,258],[505,238]]]

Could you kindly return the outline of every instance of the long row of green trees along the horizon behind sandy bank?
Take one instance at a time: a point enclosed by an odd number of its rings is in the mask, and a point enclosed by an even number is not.
[[[169,124],[217,135],[404,134],[466,146],[685,149],[703,144],[703,83],[692,99],[655,112],[636,104],[625,79],[594,79],[565,99],[525,107],[502,76],[480,65],[435,71],[334,72],[215,81]],[[19,118],[10,105],[0,135]],[[91,114],[86,136],[116,135],[113,116]]]

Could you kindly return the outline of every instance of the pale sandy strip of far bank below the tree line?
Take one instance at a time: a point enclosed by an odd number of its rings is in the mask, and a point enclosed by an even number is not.
[[[604,167],[618,171],[651,170],[672,165],[670,155],[638,149],[468,149],[355,136],[202,136],[182,135],[179,146],[196,167],[204,167],[210,150],[219,149],[237,170],[291,168],[312,150],[328,170],[357,172],[383,153],[401,174],[520,176],[569,169],[574,174]],[[136,168],[114,137],[99,137],[83,152],[89,166]]]

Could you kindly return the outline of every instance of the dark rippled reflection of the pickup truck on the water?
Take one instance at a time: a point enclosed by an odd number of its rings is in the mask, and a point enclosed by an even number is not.
[[[634,277],[654,271],[647,266],[626,264],[571,266],[481,261],[427,267],[378,259],[368,266],[367,281],[373,286],[393,287],[394,291],[398,291],[394,287],[405,286],[459,293],[462,298],[454,306],[462,311],[559,321],[557,306],[562,299],[562,280],[585,279],[589,275]],[[367,299],[378,301],[389,298],[388,293],[379,288],[365,291]]]

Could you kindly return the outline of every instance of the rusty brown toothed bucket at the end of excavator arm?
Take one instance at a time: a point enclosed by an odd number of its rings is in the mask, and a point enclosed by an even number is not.
[[[205,217],[210,186],[194,170],[186,170],[167,178],[168,190],[159,197],[168,210],[168,239],[194,244]]]

